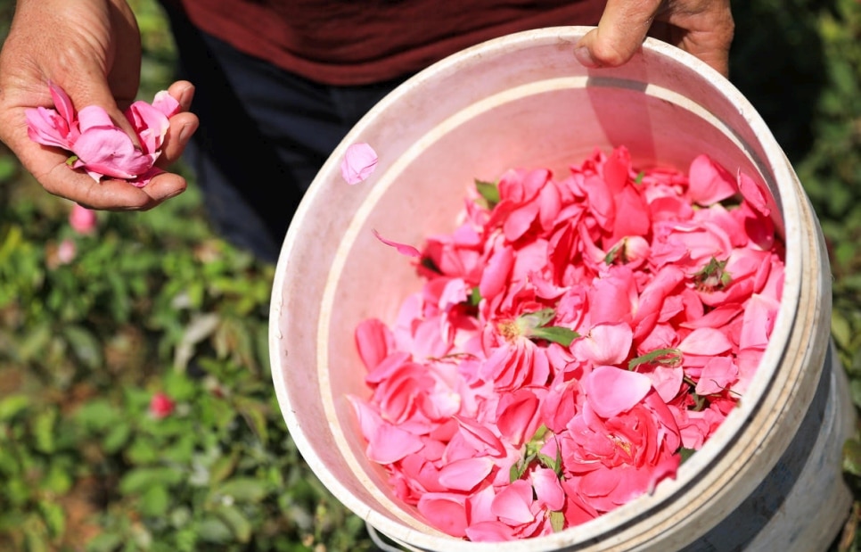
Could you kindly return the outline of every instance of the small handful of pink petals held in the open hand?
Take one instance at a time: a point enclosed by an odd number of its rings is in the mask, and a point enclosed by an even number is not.
[[[89,105],[76,113],[61,87],[51,85],[50,89],[55,110],[37,107],[26,111],[31,140],[70,152],[70,168],[86,170],[96,182],[102,177],[119,178],[143,187],[161,172],[154,164],[168,132],[168,119],[180,111],[167,91],[156,94],[152,104],[138,101],[124,112],[135,129],[138,147],[102,107]]]

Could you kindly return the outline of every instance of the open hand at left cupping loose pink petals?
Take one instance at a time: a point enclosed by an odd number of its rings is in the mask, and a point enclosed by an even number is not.
[[[140,66],[140,31],[124,0],[19,0],[0,52],[0,140],[45,190],[91,209],[147,210],[182,193],[184,178],[168,172],[142,188],[124,180],[95,182],[66,166],[69,152],[37,144],[27,134],[25,111],[54,107],[51,82],[66,91],[76,111],[102,106],[137,143],[122,110],[135,100]],[[182,111],[170,119],[159,167],[179,158],[198,126],[187,112],[192,84],[176,82],[168,92]]]

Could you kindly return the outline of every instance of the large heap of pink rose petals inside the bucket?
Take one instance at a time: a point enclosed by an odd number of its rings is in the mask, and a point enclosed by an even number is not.
[[[774,327],[784,254],[764,198],[706,155],[638,172],[619,147],[562,179],[476,182],[461,226],[421,251],[383,240],[425,283],[393,324],[357,327],[367,456],[472,541],[561,531],[675,477]]]

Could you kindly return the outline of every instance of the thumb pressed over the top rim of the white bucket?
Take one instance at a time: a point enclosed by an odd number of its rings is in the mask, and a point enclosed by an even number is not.
[[[574,54],[586,67],[618,67],[643,45],[661,0],[608,0],[596,29],[580,38]]]

